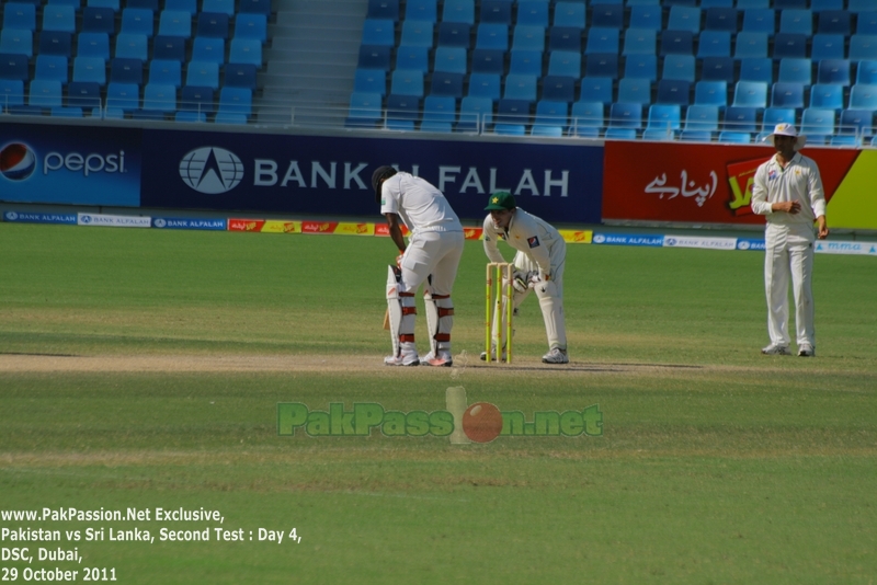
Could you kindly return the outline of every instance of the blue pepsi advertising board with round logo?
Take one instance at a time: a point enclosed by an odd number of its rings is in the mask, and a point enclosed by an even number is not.
[[[137,128],[0,124],[0,199],[138,207]]]

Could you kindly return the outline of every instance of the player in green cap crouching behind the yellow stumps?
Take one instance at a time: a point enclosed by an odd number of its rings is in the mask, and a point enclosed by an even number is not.
[[[514,300],[517,307],[536,291],[548,335],[548,353],[542,356],[545,364],[568,364],[567,328],[563,322],[563,267],[567,260],[567,243],[560,233],[545,220],[516,207],[514,196],[500,191],[490,196],[485,218],[485,253],[490,262],[505,262],[497,248],[499,240],[517,250],[514,256]],[[493,324],[494,346],[498,339]],[[502,348],[504,358],[505,348]],[[496,354],[494,354],[496,355]],[[487,354],[481,354],[487,359]]]

